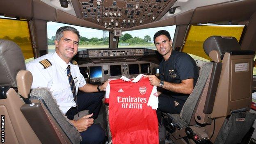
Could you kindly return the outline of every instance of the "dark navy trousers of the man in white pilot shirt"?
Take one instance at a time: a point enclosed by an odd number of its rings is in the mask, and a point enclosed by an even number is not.
[[[93,113],[91,118],[96,119],[101,109],[102,99],[104,97],[103,92],[84,93],[79,92],[77,95],[78,111],[89,110],[89,113]],[[68,119],[73,119],[77,114],[76,107],[71,107],[66,116]],[[100,125],[93,124],[87,130],[80,132],[82,142],[80,144],[103,144],[105,143],[105,133]]]

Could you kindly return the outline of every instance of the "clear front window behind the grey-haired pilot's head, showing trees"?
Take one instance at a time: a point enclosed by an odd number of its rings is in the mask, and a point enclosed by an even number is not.
[[[78,51],[89,48],[109,48],[109,32],[96,30],[93,28],[80,27],[76,25],[68,25],[64,23],[48,22],[47,37],[48,37],[48,53],[55,52],[55,33],[59,27],[71,26],[75,27],[80,33],[80,41]]]

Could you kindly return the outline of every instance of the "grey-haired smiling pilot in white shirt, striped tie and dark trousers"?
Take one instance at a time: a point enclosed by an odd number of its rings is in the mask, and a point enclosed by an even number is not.
[[[82,144],[101,144],[105,140],[103,129],[94,123],[101,108],[108,81],[103,85],[91,85],[72,60],[78,52],[80,35],[74,27],[60,27],[56,32],[55,53],[43,55],[26,65],[33,75],[32,89],[47,88],[51,91],[59,109],[82,136]],[[78,93],[78,89],[82,92]],[[73,120],[78,111],[89,110],[91,114]]]

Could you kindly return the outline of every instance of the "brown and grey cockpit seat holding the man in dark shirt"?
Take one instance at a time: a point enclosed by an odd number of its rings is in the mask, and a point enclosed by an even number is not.
[[[251,103],[254,51],[240,50],[240,45],[234,37],[221,36],[212,36],[206,39],[203,49],[213,59],[213,62],[202,66],[197,84],[185,102],[181,114],[163,114],[166,121],[171,120],[171,122],[165,121],[165,127],[171,133],[170,137],[174,143],[178,144],[185,143],[185,141],[195,143],[195,141],[208,140],[213,143],[232,143],[234,142],[230,140],[232,138],[240,142],[241,135],[243,137],[249,129],[243,130],[243,134],[240,134],[239,138],[235,135],[238,139],[230,136],[229,133],[222,132],[231,129],[224,121],[228,123],[229,119],[226,117],[236,117],[237,115],[234,113],[242,112],[238,115],[246,115],[247,119],[243,124],[248,124],[249,127],[255,120],[255,114],[248,112]],[[235,68],[235,64],[239,65]],[[235,73],[237,71],[239,72]],[[233,75],[230,75],[231,73]],[[235,78],[234,75],[240,79]],[[243,79],[242,75],[248,76]],[[238,85],[241,81],[242,86],[246,86],[245,91],[239,90]],[[233,89],[231,89],[232,86]],[[238,94],[232,90],[238,91]],[[233,103],[235,104],[233,105]],[[232,116],[232,114],[234,115]],[[226,126],[226,129],[221,129],[223,125]]]

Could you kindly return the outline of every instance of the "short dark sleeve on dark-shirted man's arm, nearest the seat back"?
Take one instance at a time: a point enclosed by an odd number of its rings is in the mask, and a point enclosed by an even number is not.
[[[182,55],[176,62],[176,69],[181,81],[189,78],[195,78],[194,61],[189,55]]]

